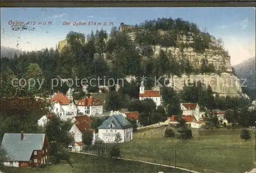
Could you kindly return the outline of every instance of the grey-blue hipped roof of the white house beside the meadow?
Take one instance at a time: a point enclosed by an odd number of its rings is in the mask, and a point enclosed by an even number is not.
[[[98,129],[109,129],[111,123],[114,124],[112,129],[126,129],[133,126],[123,115],[118,114],[110,116],[98,127]]]

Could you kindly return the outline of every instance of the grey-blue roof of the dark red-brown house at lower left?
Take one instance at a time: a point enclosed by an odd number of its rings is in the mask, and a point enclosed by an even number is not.
[[[20,140],[21,134],[4,135],[2,147],[6,149],[10,160],[29,161],[33,150],[41,150],[44,145],[45,134],[23,134],[23,140]]]

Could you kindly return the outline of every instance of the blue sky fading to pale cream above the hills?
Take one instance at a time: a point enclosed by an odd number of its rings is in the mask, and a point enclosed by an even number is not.
[[[110,32],[120,23],[135,25],[146,19],[180,17],[196,23],[215,36],[222,38],[224,47],[236,65],[255,56],[255,8],[1,8],[1,46],[25,51],[55,48],[70,31],[90,34],[103,28]],[[23,21],[34,31],[13,31],[11,25]],[[38,25],[40,22],[46,25]],[[51,21],[51,25],[49,23]],[[84,26],[75,26],[85,21]],[[102,26],[89,26],[89,21]],[[106,22],[106,26],[103,23]],[[110,25],[113,22],[114,25]],[[49,23],[49,25],[48,25]],[[70,25],[63,25],[70,23]],[[35,25],[33,25],[35,24]],[[73,25],[75,24],[75,25]]]

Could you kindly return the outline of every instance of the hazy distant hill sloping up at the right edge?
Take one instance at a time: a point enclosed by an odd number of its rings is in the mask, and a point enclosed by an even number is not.
[[[255,99],[255,57],[237,64],[234,66],[234,71],[239,78],[247,79],[245,83],[247,88],[244,88],[244,92]]]

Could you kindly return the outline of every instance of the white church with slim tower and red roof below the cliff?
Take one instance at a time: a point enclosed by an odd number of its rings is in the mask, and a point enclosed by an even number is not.
[[[161,95],[159,94],[158,91],[154,90],[145,90],[144,88],[144,83],[143,80],[141,81],[140,84],[140,94],[139,94],[139,99],[144,100],[145,98],[150,98],[154,100],[157,106],[161,105]]]

